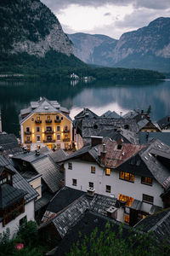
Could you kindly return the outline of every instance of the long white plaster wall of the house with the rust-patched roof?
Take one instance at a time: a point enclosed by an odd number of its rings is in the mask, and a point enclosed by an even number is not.
[[[72,170],[68,169],[68,162],[65,162],[65,185],[73,189],[87,191],[88,183],[94,183],[94,189],[97,194],[115,195],[119,194],[131,196],[134,199],[142,201],[143,194],[154,196],[154,205],[163,207],[161,201],[161,193],[163,189],[161,185],[153,180],[152,186],[141,183],[141,177],[135,176],[134,183],[119,179],[119,172],[111,171],[110,176],[105,176],[105,170],[95,163],[82,162],[79,160],[72,162]],[[91,166],[95,166],[95,173],[91,173]],[[72,185],[72,179],[77,179],[77,186]],[[105,186],[111,186],[111,193],[105,192]],[[148,205],[147,203],[144,205]]]

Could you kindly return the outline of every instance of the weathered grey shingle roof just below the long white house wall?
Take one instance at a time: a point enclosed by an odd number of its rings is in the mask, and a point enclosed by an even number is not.
[[[82,195],[74,201],[69,207],[57,214],[52,222],[58,230],[59,235],[64,237],[68,230],[77,224],[83,217],[86,210],[91,210],[99,214],[107,215],[106,209],[116,205],[116,198],[111,198],[105,195],[94,195],[93,198],[87,195]]]

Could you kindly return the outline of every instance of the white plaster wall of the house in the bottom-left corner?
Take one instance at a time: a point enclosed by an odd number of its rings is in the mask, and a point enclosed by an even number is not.
[[[25,212],[21,213],[17,218],[13,219],[10,221],[8,224],[6,224],[3,227],[3,222],[0,223],[0,233],[5,231],[7,228],[10,229],[10,234],[11,236],[14,235],[14,232],[18,230],[19,224],[20,224],[20,219],[27,217],[27,220],[34,220],[34,201],[30,201],[28,204],[25,206]]]

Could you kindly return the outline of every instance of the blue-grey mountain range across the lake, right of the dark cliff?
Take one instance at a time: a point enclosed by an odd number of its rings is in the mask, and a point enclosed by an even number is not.
[[[161,17],[137,31],[123,33],[119,40],[88,34],[81,38],[79,33],[68,36],[75,45],[75,54],[90,64],[170,72],[169,31],[170,18]],[[96,36],[103,38],[103,41],[96,39]],[[92,38],[98,44],[93,44]],[[85,54],[82,52],[84,49]]]

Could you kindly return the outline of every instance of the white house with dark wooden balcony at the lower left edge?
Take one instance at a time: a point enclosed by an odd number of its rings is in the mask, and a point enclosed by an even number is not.
[[[9,228],[12,236],[24,220],[35,220],[37,196],[10,159],[0,155],[0,233]]]

